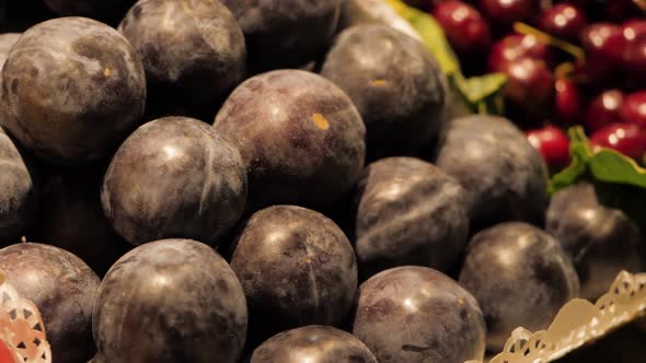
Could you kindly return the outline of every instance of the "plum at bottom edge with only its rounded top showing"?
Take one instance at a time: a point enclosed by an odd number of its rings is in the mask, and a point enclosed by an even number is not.
[[[327,326],[284,331],[254,350],[251,363],[377,363],[359,339]]]

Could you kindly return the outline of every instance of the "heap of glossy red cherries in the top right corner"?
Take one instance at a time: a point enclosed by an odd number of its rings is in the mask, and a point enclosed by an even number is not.
[[[506,113],[552,168],[567,165],[563,129],[577,124],[593,147],[643,159],[646,19],[636,1],[429,0],[426,5],[466,73],[507,74]]]

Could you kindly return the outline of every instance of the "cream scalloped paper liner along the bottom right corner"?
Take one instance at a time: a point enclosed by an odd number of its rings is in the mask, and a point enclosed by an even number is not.
[[[646,273],[622,271],[596,304],[582,298],[565,304],[547,330],[514,330],[503,352],[489,363],[552,362],[636,319],[645,309]]]

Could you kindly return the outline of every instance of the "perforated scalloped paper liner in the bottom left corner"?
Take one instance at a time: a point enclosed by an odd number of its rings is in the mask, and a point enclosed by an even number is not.
[[[18,362],[51,363],[51,349],[38,308],[20,297],[1,273],[0,340],[16,354]]]

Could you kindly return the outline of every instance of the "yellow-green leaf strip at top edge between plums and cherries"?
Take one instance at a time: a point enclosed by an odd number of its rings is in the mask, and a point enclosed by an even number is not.
[[[458,57],[435,17],[422,10],[406,5],[401,0],[384,0],[384,2],[413,25],[447,75],[460,72]]]

